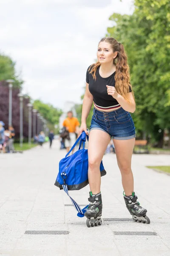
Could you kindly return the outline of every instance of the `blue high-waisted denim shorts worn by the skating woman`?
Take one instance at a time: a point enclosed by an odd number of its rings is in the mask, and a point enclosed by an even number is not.
[[[105,131],[116,140],[135,138],[133,119],[123,108],[111,112],[101,112],[94,108],[90,131],[94,129]]]

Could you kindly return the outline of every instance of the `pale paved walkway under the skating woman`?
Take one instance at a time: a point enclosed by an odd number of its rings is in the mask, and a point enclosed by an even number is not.
[[[133,155],[135,192],[150,224],[125,207],[116,155],[103,158],[103,224],[88,228],[54,186],[65,151],[54,141],[23,154],[0,154],[0,256],[170,256],[170,176],[145,166],[170,165],[169,155]],[[89,187],[70,192],[88,204]]]

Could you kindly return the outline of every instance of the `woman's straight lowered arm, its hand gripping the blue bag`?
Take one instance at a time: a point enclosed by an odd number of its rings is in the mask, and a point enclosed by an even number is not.
[[[93,95],[90,93],[88,89],[88,83],[86,83],[85,96],[82,103],[82,122],[80,127],[80,133],[82,133],[82,131],[85,131],[85,133],[88,134],[86,119],[91,110],[92,104],[93,104]]]

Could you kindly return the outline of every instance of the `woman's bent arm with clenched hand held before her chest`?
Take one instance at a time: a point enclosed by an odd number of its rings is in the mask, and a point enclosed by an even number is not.
[[[127,97],[130,101],[130,103],[127,102],[127,100],[125,98],[123,98],[122,95],[120,95],[119,93],[117,93],[115,87],[113,86],[107,86],[107,91],[108,91],[108,95],[111,95],[114,99],[116,99],[116,101],[121,105],[121,107],[128,112],[135,112],[136,110],[136,104],[133,98],[133,94],[127,93]]]

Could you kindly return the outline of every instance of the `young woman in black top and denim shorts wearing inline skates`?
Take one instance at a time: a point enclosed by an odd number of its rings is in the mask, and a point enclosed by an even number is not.
[[[130,84],[127,55],[123,45],[116,39],[102,38],[97,59],[87,70],[80,127],[80,133],[85,131],[88,134],[86,119],[94,103],[88,143],[88,180],[91,192],[85,216],[96,218],[102,215],[99,166],[108,143],[113,138],[126,207],[135,221],[149,223],[147,210],[139,205],[133,192],[131,158],[135,144],[135,127],[129,112],[135,111],[136,104]]]

